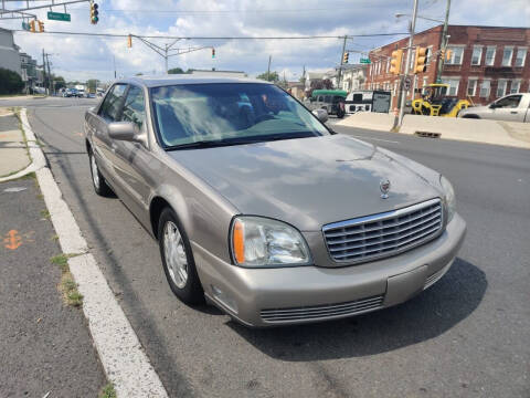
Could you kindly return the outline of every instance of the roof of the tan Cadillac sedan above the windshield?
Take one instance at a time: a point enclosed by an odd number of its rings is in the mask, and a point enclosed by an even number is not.
[[[137,84],[146,87],[159,87],[166,85],[176,84],[210,84],[210,83],[259,83],[259,84],[273,84],[256,78],[248,77],[223,77],[216,76],[214,73],[211,75],[192,75],[192,74],[177,74],[167,76],[135,76],[129,78],[120,78],[114,83],[128,83]]]

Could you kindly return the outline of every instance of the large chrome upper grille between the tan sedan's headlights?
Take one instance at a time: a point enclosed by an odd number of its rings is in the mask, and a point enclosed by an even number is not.
[[[391,256],[434,239],[442,230],[439,199],[380,214],[324,226],[329,255],[336,262]]]

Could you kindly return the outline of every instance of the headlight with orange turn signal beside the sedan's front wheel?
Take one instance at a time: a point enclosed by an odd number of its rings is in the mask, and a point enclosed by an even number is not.
[[[286,266],[310,263],[300,232],[285,222],[240,216],[232,222],[232,255],[242,266]]]

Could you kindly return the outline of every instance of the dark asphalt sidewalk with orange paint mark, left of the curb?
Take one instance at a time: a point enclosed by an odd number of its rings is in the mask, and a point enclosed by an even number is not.
[[[97,397],[106,377],[45,209],[32,175],[0,184],[0,397]]]

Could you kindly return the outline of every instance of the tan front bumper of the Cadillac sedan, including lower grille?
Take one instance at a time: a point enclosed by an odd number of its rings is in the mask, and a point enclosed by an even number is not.
[[[204,294],[247,326],[336,320],[396,305],[448,271],[466,234],[455,214],[435,240],[396,256],[343,268],[245,269],[192,243]]]

